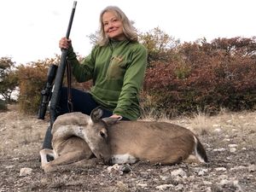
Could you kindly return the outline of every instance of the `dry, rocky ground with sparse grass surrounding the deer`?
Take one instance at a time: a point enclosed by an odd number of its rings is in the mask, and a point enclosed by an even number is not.
[[[165,119],[166,120],[166,119]],[[39,150],[49,121],[0,113],[0,192],[3,191],[256,191],[256,112],[169,120],[194,131],[209,164],[72,167],[44,173]],[[25,170],[25,172],[23,172]]]

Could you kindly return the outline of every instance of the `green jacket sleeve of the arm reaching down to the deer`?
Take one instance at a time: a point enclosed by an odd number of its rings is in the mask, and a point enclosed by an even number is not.
[[[143,85],[143,79],[148,61],[147,50],[143,45],[131,53],[131,63],[126,68],[124,84],[120,92],[117,107],[113,113],[122,115],[128,111],[131,104],[137,104],[138,94]]]

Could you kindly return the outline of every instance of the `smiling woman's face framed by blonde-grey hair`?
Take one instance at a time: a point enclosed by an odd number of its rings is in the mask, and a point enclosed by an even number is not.
[[[102,22],[104,26],[104,32],[108,35],[108,38],[115,40],[124,40],[125,34],[123,32],[123,23],[113,13],[113,11],[107,11],[102,15]]]

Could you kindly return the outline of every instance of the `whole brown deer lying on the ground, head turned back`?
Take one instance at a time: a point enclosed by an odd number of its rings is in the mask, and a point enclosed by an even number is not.
[[[199,138],[183,126],[101,117],[101,108],[95,108],[90,116],[79,112],[60,115],[52,128],[53,149],[40,151],[44,172],[76,162],[88,166],[99,162],[108,165],[137,161],[153,165],[208,162]],[[54,160],[48,162],[47,154]]]

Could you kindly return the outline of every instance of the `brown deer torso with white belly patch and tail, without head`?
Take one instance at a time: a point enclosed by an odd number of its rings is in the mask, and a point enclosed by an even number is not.
[[[120,121],[108,128],[111,162],[172,165],[195,152],[207,161],[207,154],[192,131],[166,122]]]

